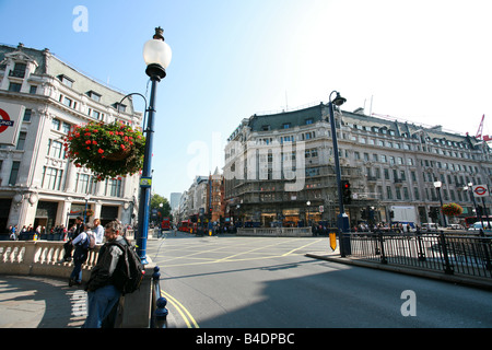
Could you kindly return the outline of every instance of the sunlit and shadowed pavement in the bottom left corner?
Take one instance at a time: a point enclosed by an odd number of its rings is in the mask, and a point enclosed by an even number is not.
[[[86,292],[68,280],[0,276],[0,328],[80,328]]]

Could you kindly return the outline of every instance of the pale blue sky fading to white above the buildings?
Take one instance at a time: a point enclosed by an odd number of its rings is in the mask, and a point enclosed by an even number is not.
[[[164,28],[173,59],[157,85],[152,190],[166,198],[222,168],[243,118],[333,90],[344,110],[472,136],[485,115],[492,133],[490,0],[0,0],[0,43],[49,48],[148,98],[142,47]]]

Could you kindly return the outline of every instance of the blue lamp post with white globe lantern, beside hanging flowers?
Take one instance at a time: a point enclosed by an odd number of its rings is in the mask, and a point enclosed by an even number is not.
[[[172,51],[164,42],[164,31],[155,28],[151,40],[143,45],[143,60],[147,63],[145,73],[150,77],[151,96],[148,108],[148,120],[145,129],[145,151],[143,155],[142,176],[140,177],[140,206],[139,206],[139,232],[137,237],[137,252],[147,265],[147,238],[149,233],[150,197],[152,187],[152,145],[154,133],[155,93],[157,83],[166,77],[166,68],[171,63]]]

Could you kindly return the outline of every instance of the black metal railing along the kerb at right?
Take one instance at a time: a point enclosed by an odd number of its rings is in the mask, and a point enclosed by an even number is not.
[[[350,258],[492,278],[491,236],[394,232],[345,236],[350,237]]]

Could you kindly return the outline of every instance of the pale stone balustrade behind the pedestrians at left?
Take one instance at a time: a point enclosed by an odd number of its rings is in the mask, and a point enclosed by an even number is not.
[[[65,242],[49,241],[3,241],[0,242],[0,275],[47,276],[67,279],[73,269],[73,264],[58,264],[63,257]],[[86,282],[91,269],[97,262],[102,245],[90,250],[87,260],[82,266],[82,281]],[[145,277],[139,291],[127,294],[120,301],[120,323],[122,328],[150,327],[152,307],[152,273],[155,264],[148,257]]]

